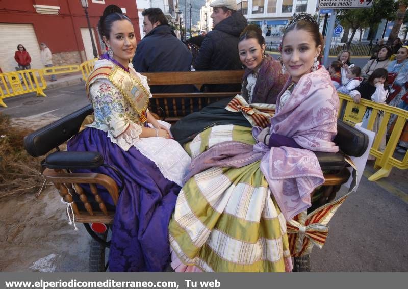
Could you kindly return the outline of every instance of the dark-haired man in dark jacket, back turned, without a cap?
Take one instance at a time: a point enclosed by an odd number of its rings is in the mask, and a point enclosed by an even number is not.
[[[146,35],[137,44],[132,60],[137,72],[190,71],[192,55],[187,46],[174,34],[160,8],[142,12]],[[151,93],[192,92],[185,85],[150,86]]]

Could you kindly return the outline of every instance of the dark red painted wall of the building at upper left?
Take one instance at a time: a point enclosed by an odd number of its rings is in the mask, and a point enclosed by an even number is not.
[[[105,7],[116,4],[126,9],[126,15],[135,27],[137,40],[141,39],[139,18],[135,0],[105,0],[104,4],[88,0],[88,13],[91,27],[94,29],[98,52],[101,47],[97,39],[97,23]],[[33,5],[59,6],[58,15],[39,14]],[[87,28],[87,20],[80,0],[2,0],[0,1],[0,23],[32,24],[38,42],[45,42],[55,54],[81,52],[84,58],[84,44],[81,28]],[[10,37],[13,37],[10,35]],[[83,61],[83,59],[81,59]]]

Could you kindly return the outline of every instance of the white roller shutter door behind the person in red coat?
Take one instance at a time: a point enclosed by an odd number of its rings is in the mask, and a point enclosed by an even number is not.
[[[15,71],[18,66],[14,59],[17,45],[22,44],[31,56],[31,68],[41,69],[40,46],[31,24],[4,24],[0,23],[0,68],[3,73]]]

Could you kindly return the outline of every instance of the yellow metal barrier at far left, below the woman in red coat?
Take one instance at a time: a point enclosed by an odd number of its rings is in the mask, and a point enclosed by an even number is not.
[[[20,70],[0,74],[0,106],[7,108],[3,99],[29,92],[37,96],[46,96],[43,90],[47,87],[42,69]]]

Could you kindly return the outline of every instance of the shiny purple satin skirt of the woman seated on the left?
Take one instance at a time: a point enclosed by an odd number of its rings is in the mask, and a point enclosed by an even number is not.
[[[84,129],[68,141],[67,150],[98,151],[105,163],[117,168],[125,179],[112,228],[109,270],[164,271],[170,262],[168,224],[181,188],[164,178],[155,163],[135,147],[122,150],[102,130]],[[117,175],[105,167],[75,172],[106,174],[120,186]],[[84,189],[90,193],[89,186],[84,185]],[[113,205],[107,191],[98,191],[106,203]]]

